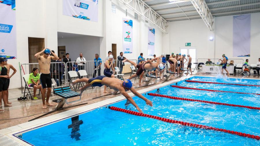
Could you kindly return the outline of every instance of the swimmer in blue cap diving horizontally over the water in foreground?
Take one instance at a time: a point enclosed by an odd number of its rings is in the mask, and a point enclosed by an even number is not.
[[[81,79],[77,79],[76,81],[73,82],[73,84],[77,84],[79,82],[85,82],[87,83],[83,88],[80,88],[80,95],[82,94],[82,92],[87,89],[88,87],[96,87],[96,86],[108,86],[114,90],[120,91],[120,93],[125,96],[125,98],[127,100],[129,100],[129,102],[131,102],[131,104],[133,104],[133,106],[135,106],[135,108],[140,112],[143,113],[142,110],[138,107],[138,105],[135,103],[135,101],[133,100],[133,98],[131,98],[131,96],[129,96],[127,94],[126,91],[130,90],[135,96],[138,96],[139,98],[143,99],[147,105],[149,106],[153,106],[153,103],[148,100],[147,98],[145,98],[144,96],[142,96],[140,93],[138,93],[137,91],[135,91],[135,89],[132,87],[132,82],[130,80],[125,80],[122,81],[118,78],[109,78],[106,76],[97,76],[96,78],[81,78]]]

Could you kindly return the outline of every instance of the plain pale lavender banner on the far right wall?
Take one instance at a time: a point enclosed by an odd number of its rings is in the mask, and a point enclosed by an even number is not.
[[[250,56],[251,14],[233,16],[233,57]]]

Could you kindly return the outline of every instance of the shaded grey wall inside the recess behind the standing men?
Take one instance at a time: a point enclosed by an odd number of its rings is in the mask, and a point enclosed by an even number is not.
[[[86,36],[79,38],[58,39],[58,46],[65,46],[66,53],[70,54],[71,61],[75,61],[79,57],[79,53],[83,53],[83,57],[87,61],[94,60],[95,54],[100,54],[100,37]]]

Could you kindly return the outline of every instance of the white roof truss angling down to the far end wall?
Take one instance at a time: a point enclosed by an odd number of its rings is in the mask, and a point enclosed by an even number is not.
[[[207,27],[212,31],[213,16],[204,0],[191,0],[192,5],[197,10],[198,14],[207,25]]]

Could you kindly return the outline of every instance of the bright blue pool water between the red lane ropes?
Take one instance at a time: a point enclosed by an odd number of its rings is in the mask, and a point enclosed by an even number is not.
[[[233,78],[192,77],[190,80],[260,85],[260,80]],[[172,85],[176,85],[175,83]],[[188,83],[180,81],[179,86],[260,93],[260,87],[236,85],[219,85],[204,83]],[[209,92],[179,89],[165,86],[157,93],[182,98],[240,104],[260,107],[260,96],[252,94]],[[173,100],[169,98],[148,96],[153,106],[133,97],[138,106],[146,114],[159,117],[196,123],[216,128],[233,130],[247,134],[260,135],[260,111],[241,107],[206,104],[200,102]],[[137,111],[126,100],[111,104],[119,108]],[[224,132],[205,130],[173,123],[166,123],[147,117],[139,117],[108,108],[66,119],[41,127],[20,136],[32,145],[260,145],[260,142]]]

